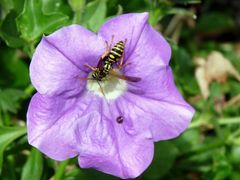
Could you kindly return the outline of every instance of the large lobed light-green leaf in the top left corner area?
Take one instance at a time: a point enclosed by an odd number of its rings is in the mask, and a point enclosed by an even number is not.
[[[42,11],[42,1],[26,0],[23,12],[17,18],[17,27],[21,37],[27,42],[33,42],[44,33],[51,33],[66,25],[68,16]]]

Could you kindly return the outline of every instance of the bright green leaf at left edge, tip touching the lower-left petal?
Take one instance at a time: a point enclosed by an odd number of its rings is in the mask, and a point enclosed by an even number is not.
[[[0,98],[1,99],[1,98]],[[3,152],[5,148],[15,139],[26,133],[23,127],[3,127],[0,126],[0,174],[3,162]]]

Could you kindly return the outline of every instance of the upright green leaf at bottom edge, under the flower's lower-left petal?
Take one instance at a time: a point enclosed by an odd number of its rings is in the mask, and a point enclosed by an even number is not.
[[[21,179],[40,180],[43,172],[43,157],[42,154],[35,148],[32,149],[27,162],[22,171]]]

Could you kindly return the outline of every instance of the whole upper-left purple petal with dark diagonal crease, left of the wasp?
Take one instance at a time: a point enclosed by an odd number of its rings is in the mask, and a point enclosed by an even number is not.
[[[104,41],[78,25],[61,28],[43,37],[30,65],[30,77],[37,91],[46,95],[75,95],[84,89],[90,65],[97,64],[105,50]]]

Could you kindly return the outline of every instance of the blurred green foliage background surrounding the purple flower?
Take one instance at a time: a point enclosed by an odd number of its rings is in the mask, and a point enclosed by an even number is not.
[[[137,179],[240,179],[238,0],[0,0],[0,179],[117,179],[80,169],[77,159],[56,162],[28,144],[26,111],[35,92],[28,67],[43,34],[72,23],[96,32],[113,16],[145,11],[171,44],[176,84],[197,112],[181,136],[155,144],[151,166]],[[212,51],[224,61],[212,60]],[[205,76],[196,78],[198,70]],[[201,92],[198,82],[208,88]]]

